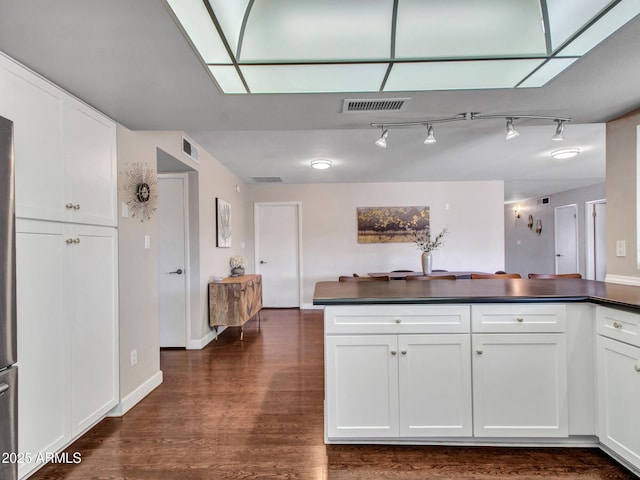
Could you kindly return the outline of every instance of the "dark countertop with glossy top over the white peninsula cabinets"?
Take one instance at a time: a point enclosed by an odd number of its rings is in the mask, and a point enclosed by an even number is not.
[[[314,305],[594,302],[640,312],[640,287],[563,278],[318,282]]]

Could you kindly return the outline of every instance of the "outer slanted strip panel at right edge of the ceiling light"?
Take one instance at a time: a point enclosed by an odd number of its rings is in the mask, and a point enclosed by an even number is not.
[[[597,23],[560,52],[561,55],[584,55],[613,32],[640,14],[640,1],[622,0]]]

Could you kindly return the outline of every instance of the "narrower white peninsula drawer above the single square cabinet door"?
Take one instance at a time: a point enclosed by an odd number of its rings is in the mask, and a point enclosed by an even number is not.
[[[471,328],[483,333],[562,333],[564,305],[530,303],[487,304],[471,307]]]

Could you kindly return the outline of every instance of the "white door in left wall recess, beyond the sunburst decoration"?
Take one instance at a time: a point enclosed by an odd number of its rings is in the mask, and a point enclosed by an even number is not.
[[[186,175],[158,175],[160,346],[187,346]]]

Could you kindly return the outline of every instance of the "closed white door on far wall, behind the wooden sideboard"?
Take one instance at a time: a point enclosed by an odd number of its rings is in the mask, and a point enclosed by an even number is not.
[[[300,306],[300,204],[257,203],[255,271],[266,308]]]

